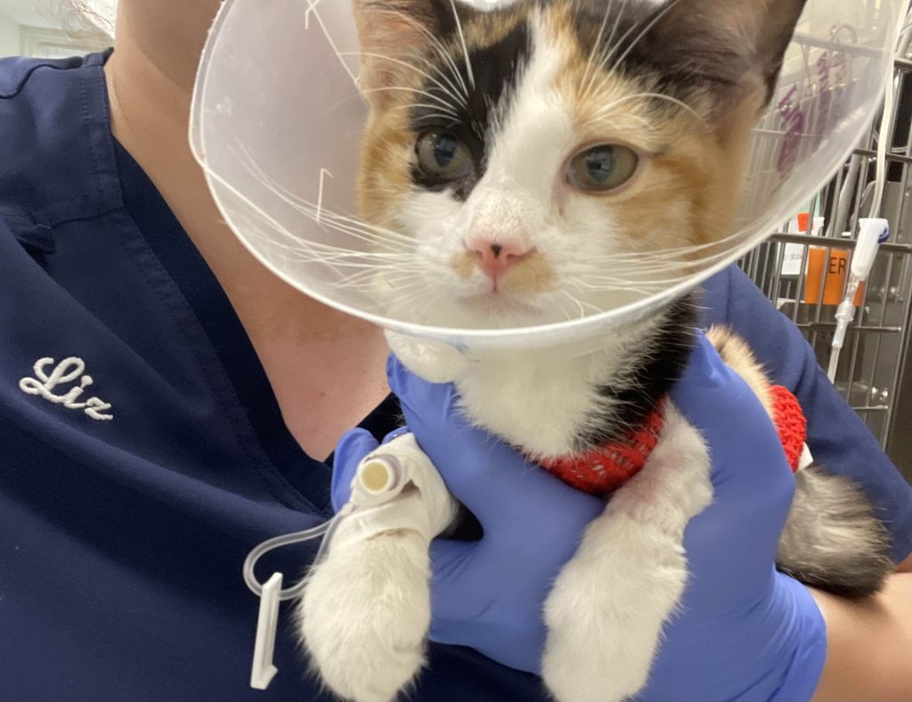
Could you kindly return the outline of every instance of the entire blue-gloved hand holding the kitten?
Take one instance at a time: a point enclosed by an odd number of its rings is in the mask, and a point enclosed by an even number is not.
[[[485,532],[480,542],[432,544],[432,639],[538,672],[544,597],[604,503],[467,427],[451,386],[413,377],[395,359],[389,379],[422,448]],[[803,586],[773,568],[794,490],[779,438],[703,337],[672,399],[710,447],[714,501],[685,533],[691,579],[641,697],[808,699],[824,663],[825,626]],[[358,430],[340,442],[337,509],[376,446]]]

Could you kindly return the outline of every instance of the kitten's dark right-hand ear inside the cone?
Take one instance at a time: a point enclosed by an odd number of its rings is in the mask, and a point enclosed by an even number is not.
[[[653,51],[681,81],[704,83],[722,111],[760,92],[766,108],[806,0],[668,0]]]

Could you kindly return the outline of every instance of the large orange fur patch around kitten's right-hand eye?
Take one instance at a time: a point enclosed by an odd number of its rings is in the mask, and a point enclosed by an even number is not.
[[[708,99],[682,107],[656,97],[650,78],[610,71],[611,58],[599,67],[603,57],[590,56],[575,36],[568,3],[552,5],[544,26],[565,57],[555,89],[575,120],[579,143],[621,143],[644,157],[628,188],[576,196],[599,199],[606,214],[624,222],[617,233],[630,251],[658,252],[729,234],[762,96],[745,100],[723,125],[710,126]]]

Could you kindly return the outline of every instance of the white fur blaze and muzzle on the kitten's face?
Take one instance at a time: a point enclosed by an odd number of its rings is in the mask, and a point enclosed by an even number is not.
[[[461,202],[447,191],[415,191],[405,202],[399,224],[415,242],[425,285],[420,296],[409,293],[411,288],[400,300],[393,294],[391,314],[436,325],[498,328],[565,321],[592,312],[586,305],[606,308],[637,297],[633,290],[606,293],[603,279],[611,271],[593,261],[627,252],[627,242],[644,232],[636,231],[636,222],[612,216],[604,199],[566,185],[565,164],[586,136],[555,84],[565,51],[541,18],[534,20],[532,36],[529,64],[513,94],[503,98],[487,168],[469,198]],[[624,105],[629,109],[630,101]],[[616,136],[636,141],[623,131]],[[668,207],[669,217],[679,211],[674,202]],[[496,301],[486,300],[489,304],[467,305],[488,294],[491,281],[481,270],[465,279],[451,262],[477,237],[536,249],[551,265],[553,285],[537,294],[502,293]],[[594,287],[602,289],[593,292]]]

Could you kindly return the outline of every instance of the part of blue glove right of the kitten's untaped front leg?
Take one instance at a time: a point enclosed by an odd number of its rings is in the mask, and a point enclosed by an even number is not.
[[[773,568],[794,492],[782,444],[705,337],[671,397],[710,447],[714,499],[685,532],[690,582],[641,698],[805,702],[826,631],[806,588]]]

